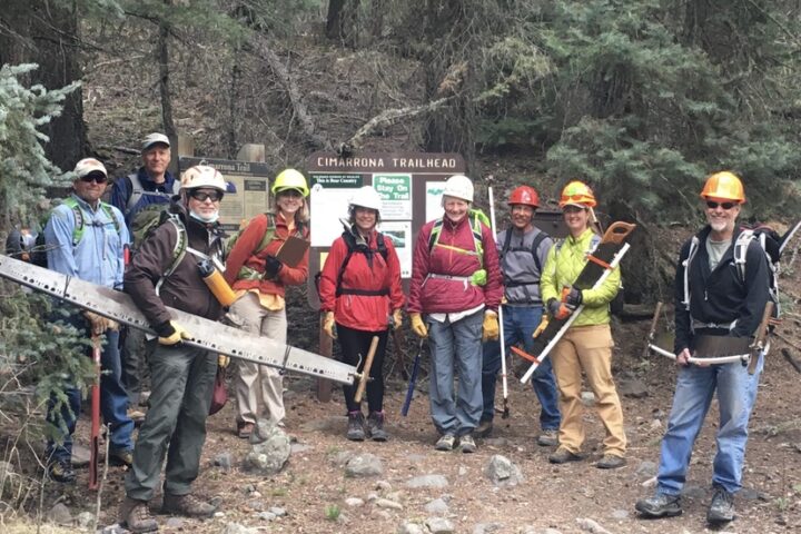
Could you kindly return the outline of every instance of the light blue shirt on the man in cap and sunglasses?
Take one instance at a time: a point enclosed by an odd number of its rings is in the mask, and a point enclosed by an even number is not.
[[[72,247],[75,214],[66,204],[57,206],[44,227],[48,268],[85,281],[121,289],[125,273],[123,247],[130,244],[122,214],[109,206],[117,218],[115,225],[99,204],[97,209],[92,209],[78,196],[72,195],[72,198],[77,200],[83,216],[83,236],[78,245]]]

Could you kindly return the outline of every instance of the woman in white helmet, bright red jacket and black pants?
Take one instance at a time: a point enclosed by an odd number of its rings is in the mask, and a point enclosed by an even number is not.
[[[365,437],[385,442],[388,437],[384,429],[384,355],[388,327],[400,326],[404,305],[400,261],[392,240],[376,230],[380,208],[380,197],[373,187],[365,186],[354,194],[350,230],[332,245],[319,283],[323,328],[333,338],[338,335],[343,362],[358,365],[360,372],[373,336],[378,336],[372,379],[367,383],[366,423],[362,406],[354,400],[356,386],[343,388],[348,411],[347,438],[356,442]]]

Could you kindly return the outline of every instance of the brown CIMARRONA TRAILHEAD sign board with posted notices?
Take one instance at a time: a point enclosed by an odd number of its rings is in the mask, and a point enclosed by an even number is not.
[[[343,157],[330,152],[309,156],[307,167],[312,195],[312,251],[309,273],[322,269],[332,243],[343,233],[350,197],[362,186],[372,185],[382,197],[378,229],[392,239],[400,260],[405,289],[412,277],[412,253],[417,231],[442,215],[443,184],[464,174],[458,154],[390,152]],[[317,309],[319,300],[309,276],[308,303]]]

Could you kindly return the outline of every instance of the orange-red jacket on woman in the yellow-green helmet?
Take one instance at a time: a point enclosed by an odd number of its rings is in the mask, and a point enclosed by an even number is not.
[[[289,229],[286,226],[284,217],[277,215],[275,218],[275,235],[273,240],[258,254],[256,248],[261,243],[261,238],[267,231],[267,216],[257,215],[248,222],[241,235],[234,245],[234,249],[228,255],[226,261],[226,281],[234,289],[254,289],[258,288],[263,295],[280,295],[284,296],[284,286],[299,286],[306,281],[308,276],[308,250],[304,255],[300,263],[295,267],[285,265],[279,271],[275,280],[237,280],[237,274],[243,266],[248,266],[258,273],[265,270],[265,258],[270,255],[278,254],[278,249],[289,237]],[[308,238],[308,228],[304,227],[304,237]]]

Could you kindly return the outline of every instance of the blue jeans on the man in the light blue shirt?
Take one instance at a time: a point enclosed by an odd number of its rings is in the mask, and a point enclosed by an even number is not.
[[[100,354],[100,413],[103,422],[110,426],[111,451],[131,451],[134,442],[134,422],[128,417],[128,394],[122,387],[122,365],[119,353],[119,332],[106,330],[106,340]],[[89,349],[91,356],[91,349]],[[48,422],[55,424],[61,433],[60,442],[50,439],[47,444],[48,457],[52,461],[69,462],[72,457],[72,433],[81,413],[81,393],[72,385],[65,388],[67,402],[61,406],[63,426],[56,421],[55,399],[48,403]],[[71,412],[71,413],[70,413]],[[66,431],[66,432],[65,432]]]

